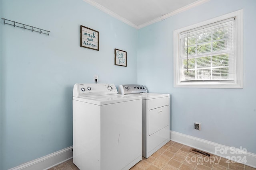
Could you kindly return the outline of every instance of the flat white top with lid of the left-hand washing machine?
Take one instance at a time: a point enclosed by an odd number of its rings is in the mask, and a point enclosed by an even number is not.
[[[89,97],[73,97],[73,100],[77,100],[80,102],[96,104],[96,105],[106,105],[106,104],[114,104],[119,102],[128,102],[131,100],[141,100],[141,96],[131,96],[131,95],[121,95],[121,94],[113,94],[113,95],[104,95],[104,96],[89,96]]]

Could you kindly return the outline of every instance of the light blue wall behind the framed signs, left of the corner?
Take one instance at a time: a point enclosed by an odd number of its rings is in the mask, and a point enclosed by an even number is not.
[[[137,83],[138,30],[83,0],[1,0],[1,16],[50,31],[0,28],[1,170],[72,146],[75,83]],[[80,47],[80,25],[100,32],[100,51]],[[114,65],[114,49],[127,67]]]

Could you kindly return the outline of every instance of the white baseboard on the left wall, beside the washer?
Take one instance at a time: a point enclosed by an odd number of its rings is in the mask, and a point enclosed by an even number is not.
[[[73,157],[73,147],[68,147],[52,154],[32,160],[10,170],[47,170]]]

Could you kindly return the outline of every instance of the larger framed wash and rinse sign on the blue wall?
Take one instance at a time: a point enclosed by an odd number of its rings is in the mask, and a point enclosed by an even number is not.
[[[80,47],[99,51],[99,31],[80,26]]]

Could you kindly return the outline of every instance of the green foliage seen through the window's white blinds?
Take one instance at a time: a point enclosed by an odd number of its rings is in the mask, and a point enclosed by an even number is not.
[[[221,52],[228,49],[228,27],[188,35],[183,42],[187,56],[182,60],[185,80],[228,79],[229,54]],[[210,54],[216,52],[220,54]]]

